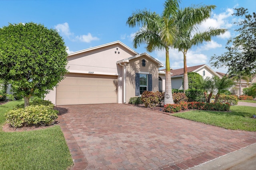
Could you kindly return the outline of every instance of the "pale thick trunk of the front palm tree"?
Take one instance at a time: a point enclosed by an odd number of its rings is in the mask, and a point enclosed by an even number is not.
[[[169,61],[169,47],[166,47],[166,61],[165,61],[165,93],[164,93],[164,105],[174,104],[172,98],[172,80],[170,72],[170,61]]]

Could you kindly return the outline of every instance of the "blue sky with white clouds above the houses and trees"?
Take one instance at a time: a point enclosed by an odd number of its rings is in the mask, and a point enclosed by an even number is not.
[[[90,47],[121,41],[134,49],[132,36],[139,27],[130,28],[126,21],[132,12],[147,9],[162,14],[165,0],[0,0],[0,27],[8,23],[41,23],[48,28],[57,29],[63,37],[68,52],[80,51]],[[233,8],[248,8],[256,12],[256,0],[182,0],[180,7],[205,4],[216,5],[212,16],[199,29],[207,27],[226,28],[228,32],[214,37],[211,42],[193,47],[187,53],[187,65],[209,64],[212,55],[224,53],[227,39],[236,36],[232,23],[238,20],[232,16]],[[134,49],[146,52],[144,44]],[[148,53],[165,64],[165,52]],[[183,68],[183,54],[170,50],[170,66]],[[213,67],[212,67],[213,68]],[[226,72],[226,68],[215,71]]]

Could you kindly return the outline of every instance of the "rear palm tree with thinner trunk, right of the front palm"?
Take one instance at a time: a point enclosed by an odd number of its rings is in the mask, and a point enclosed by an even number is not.
[[[220,35],[226,32],[226,29],[215,29],[211,27],[209,27],[208,30],[204,32],[196,32],[198,30],[197,26],[200,23],[202,23],[202,21],[209,18],[211,15],[212,9],[215,9],[215,8],[216,6],[210,5],[210,6],[198,6],[196,8],[187,7],[187,8],[184,8],[183,10],[182,9],[178,10],[178,17],[179,17],[178,20],[182,20],[182,17],[186,15],[186,13],[196,15],[196,17],[194,17],[194,20],[191,20],[192,24],[190,25],[190,27],[182,27],[182,26],[179,27],[179,31],[185,37],[185,39],[181,39],[182,41],[177,41],[174,44],[174,48],[177,48],[179,51],[181,51],[184,57],[183,58],[184,59],[184,76],[183,76],[184,92],[185,90],[188,90],[188,70],[187,70],[187,62],[186,62],[187,51],[191,49],[191,47],[194,45],[199,45],[204,41],[211,41],[211,37]]]

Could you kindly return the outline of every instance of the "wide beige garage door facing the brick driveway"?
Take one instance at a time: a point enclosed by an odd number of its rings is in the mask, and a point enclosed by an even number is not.
[[[117,103],[117,76],[67,74],[56,90],[56,105]]]

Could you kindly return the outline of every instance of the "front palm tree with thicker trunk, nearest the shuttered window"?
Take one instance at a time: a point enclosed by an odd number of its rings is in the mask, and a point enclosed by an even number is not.
[[[146,49],[152,52],[156,49],[165,50],[166,52],[166,81],[164,104],[173,104],[172,84],[170,73],[169,49],[174,47],[176,42],[186,42],[186,36],[180,29],[189,29],[194,25],[195,20],[203,20],[205,15],[210,15],[208,8],[213,9],[215,6],[207,6],[206,9],[186,10],[179,13],[180,0],[166,0],[162,15],[147,10],[137,10],[127,20],[130,27],[141,26],[136,32],[133,45],[134,48],[146,43]]]

